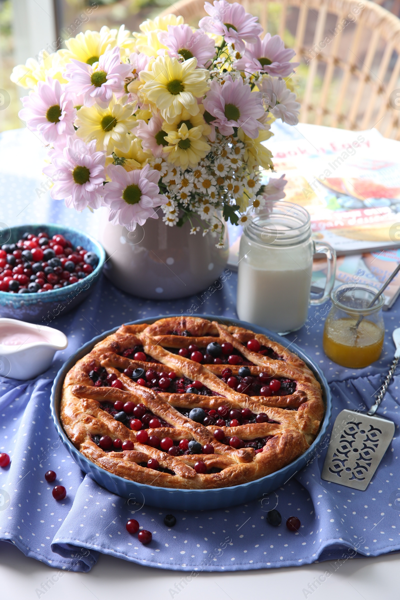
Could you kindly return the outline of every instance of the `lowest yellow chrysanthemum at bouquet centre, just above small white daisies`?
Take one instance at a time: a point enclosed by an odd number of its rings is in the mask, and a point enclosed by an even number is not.
[[[210,145],[201,135],[201,127],[188,129],[184,123],[178,131],[171,131],[164,139],[169,143],[164,147],[164,152],[168,153],[167,160],[183,170],[188,167],[194,169],[210,151]]]

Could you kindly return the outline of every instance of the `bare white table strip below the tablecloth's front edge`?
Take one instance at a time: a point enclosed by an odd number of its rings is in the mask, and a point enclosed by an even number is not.
[[[42,584],[58,571],[26,558],[11,544],[0,542],[0,598],[169,600],[179,596],[179,600],[387,600],[399,598],[399,568],[399,554],[390,554],[349,559],[336,565],[332,560],[293,568],[204,572],[179,586],[187,572],[153,569],[102,554],[89,573],[64,571],[62,578],[40,593]],[[311,592],[308,585],[327,570],[331,572],[330,577]]]

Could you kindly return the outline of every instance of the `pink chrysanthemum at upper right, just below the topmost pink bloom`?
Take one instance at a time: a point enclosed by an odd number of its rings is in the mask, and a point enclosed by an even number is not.
[[[270,34],[266,34],[263,40],[258,37],[255,44],[246,44],[245,53],[236,62],[235,68],[249,73],[263,71],[269,75],[288,77],[293,73],[294,67],[300,64],[289,62],[295,54],[294,50],[285,48],[279,35],[271,37]]]

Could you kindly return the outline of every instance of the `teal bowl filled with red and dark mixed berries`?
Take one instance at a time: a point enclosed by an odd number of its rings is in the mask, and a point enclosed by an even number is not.
[[[0,248],[2,317],[47,325],[82,302],[103,269],[103,247],[70,227],[22,225],[3,231],[5,237]]]

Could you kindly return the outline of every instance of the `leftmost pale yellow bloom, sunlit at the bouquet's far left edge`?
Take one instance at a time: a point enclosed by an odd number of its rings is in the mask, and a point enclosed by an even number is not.
[[[46,76],[58,79],[60,83],[67,83],[67,80],[62,77],[65,64],[66,61],[62,58],[60,51],[52,54],[44,52],[40,62],[34,58],[28,58],[25,65],[14,67],[10,79],[25,89],[33,89],[38,81],[46,81]]]

